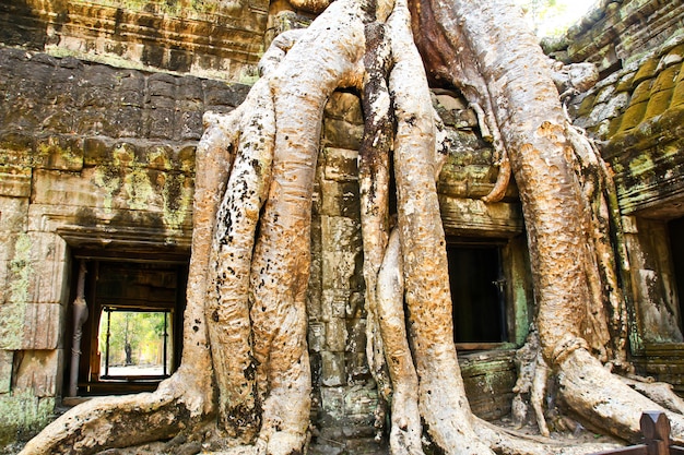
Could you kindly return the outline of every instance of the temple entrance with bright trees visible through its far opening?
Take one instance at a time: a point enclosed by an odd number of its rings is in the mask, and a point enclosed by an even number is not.
[[[80,358],[70,350],[70,367],[78,362],[78,396],[153,391],[180,363],[187,262],[79,254],[74,263],[72,289],[78,292],[81,277],[89,313]],[[64,396],[72,396],[76,374],[66,370]]]

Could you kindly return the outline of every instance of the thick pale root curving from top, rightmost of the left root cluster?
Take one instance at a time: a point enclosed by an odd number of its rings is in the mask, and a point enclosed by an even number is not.
[[[299,451],[306,441],[310,371],[305,297],[314,171],[325,103],[334,88],[356,75],[363,57],[361,17],[358,5],[335,2],[269,77],[278,129],[250,301],[256,380],[263,397],[257,445],[269,454]]]

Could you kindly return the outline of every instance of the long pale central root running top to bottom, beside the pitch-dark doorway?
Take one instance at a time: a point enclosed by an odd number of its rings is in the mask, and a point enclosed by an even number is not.
[[[397,141],[394,169],[405,299],[418,374],[421,416],[434,442],[447,453],[486,454],[472,430],[453,346],[451,298],[435,187],[435,123],[426,76],[410,39],[410,15],[397,2],[389,19],[394,68]]]

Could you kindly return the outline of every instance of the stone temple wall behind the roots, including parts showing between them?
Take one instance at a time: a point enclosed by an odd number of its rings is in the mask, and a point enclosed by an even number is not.
[[[201,116],[233,109],[248,88],[0,49],[0,443],[45,424],[66,394],[76,252],[188,261]],[[461,359],[473,409],[497,418],[510,407],[512,348],[524,339],[531,301],[522,217],[515,185],[505,202],[479,199],[496,170],[474,113],[453,93],[438,92],[434,103],[458,130],[439,181],[447,234],[518,239],[506,251],[517,252],[510,318],[522,328],[500,350]],[[374,450],[378,398],[365,360],[358,98],[335,93],[322,130],[308,299],[312,422],[321,440],[332,441],[329,451]]]

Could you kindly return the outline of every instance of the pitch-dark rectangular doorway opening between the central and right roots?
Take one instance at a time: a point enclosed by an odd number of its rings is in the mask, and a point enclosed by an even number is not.
[[[453,340],[461,348],[490,348],[508,340],[506,287],[498,244],[447,246],[453,302]]]

